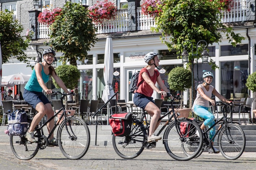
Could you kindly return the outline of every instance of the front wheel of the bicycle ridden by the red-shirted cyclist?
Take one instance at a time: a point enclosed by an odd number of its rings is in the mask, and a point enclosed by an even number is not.
[[[191,135],[179,134],[180,124],[187,123],[190,124],[190,130],[193,132]],[[179,128],[179,129],[177,129]],[[174,121],[168,125],[165,129],[163,143],[167,153],[178,161],[191,160],[202,150],[203,146],[203,133],[199,125],[190,119],[177,119],[177,128]],[[195,134],[198,130],[199,137]]]

